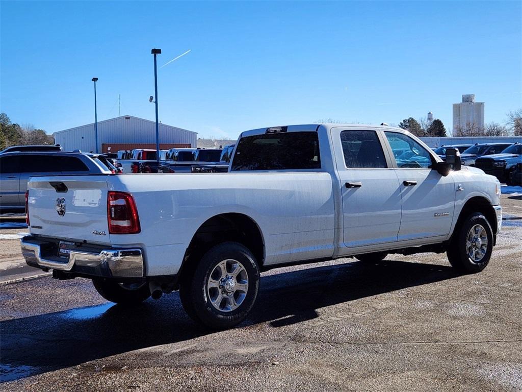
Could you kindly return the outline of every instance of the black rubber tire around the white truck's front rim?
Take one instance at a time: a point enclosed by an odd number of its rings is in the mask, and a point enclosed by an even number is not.
[[[473,247],[468,249],[468,236],[470,236],[469,238],[473,237],[470,231],[477,225],[484,229],[484,238],[488,239],[488,244],[484,247],[483,256],[480,260],[474,260],[470,256],[469,249],[473,251]],[[480,212],[474,212],[465,218],[456,230],[446,251],[449,263],[459,272],[475,273],[482,271],[488,266],[493,251],[493,230],[488,220]],[[481,239],[482,241],[483,239]]]

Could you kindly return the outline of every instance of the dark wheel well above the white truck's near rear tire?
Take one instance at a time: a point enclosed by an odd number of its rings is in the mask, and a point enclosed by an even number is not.
[[[263,266],[265,245],[259,226],[252,218],[238,213],[212,216],[197,229],[185,251],[180,274],[196,266],[205,253],[220,243],[234,241],[246,246]]]

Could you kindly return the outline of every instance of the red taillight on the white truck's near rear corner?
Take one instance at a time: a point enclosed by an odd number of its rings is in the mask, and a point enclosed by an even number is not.
[[[107,219],[109,234],[137,234],[140,232],[138,210],[130,193],[109,191]]]

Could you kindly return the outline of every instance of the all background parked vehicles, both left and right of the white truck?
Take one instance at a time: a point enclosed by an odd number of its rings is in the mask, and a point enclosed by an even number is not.
[[[446,160],[446,150],[456,148],[461,162],[482,169],[507,185],[522,186],[522,144],[484,143],[443,145],[434,152]],[[60,146],[15,146],[0,153],[0,207],[25,206],[27,181],[32,176],[60,174],[200,173],[228,171],[234,145],[224,148],[171,148],[160,151],[134,149],[109,154],[64,152]],[[401,167],[423,167],[427,158],[409,149],[394,149]],[[406,165],[406,166],[405,166]]]

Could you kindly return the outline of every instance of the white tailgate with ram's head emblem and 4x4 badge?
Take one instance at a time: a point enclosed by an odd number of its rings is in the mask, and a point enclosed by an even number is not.
[[[31,234],[110,244],[107,177],[32,177],[28,183]]]

